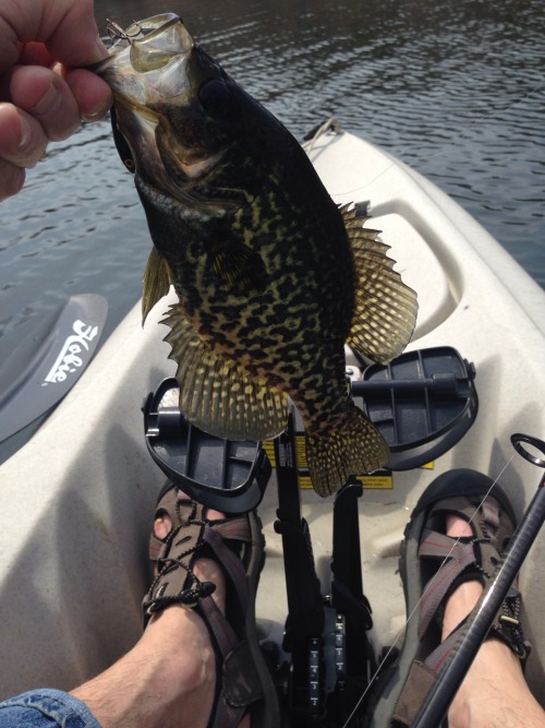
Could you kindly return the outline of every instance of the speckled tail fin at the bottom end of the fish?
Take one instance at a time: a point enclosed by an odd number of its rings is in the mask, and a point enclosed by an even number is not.
[[[306,433],[312,485],[323,498],[331,496],[350,476],[384,467],[389,454],[380,432],[352,402],[332,430]]]

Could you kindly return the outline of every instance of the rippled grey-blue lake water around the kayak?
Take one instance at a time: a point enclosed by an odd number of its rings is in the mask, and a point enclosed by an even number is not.
[[[97,0],[121,25],[168,10],[301,138],[338,117],[433,179],[545,286],[543,0]],[[51,146],[0,207],[0,363],[75,293],[141,294],[150,248],[108,121]]]

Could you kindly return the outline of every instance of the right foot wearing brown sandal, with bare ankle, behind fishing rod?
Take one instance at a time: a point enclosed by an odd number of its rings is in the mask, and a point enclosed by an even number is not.
[[[411,725],[456,647],[467,618],[471,619],[483,589],[494,578],[516,520],[500,488],[496,486],[489,494],[493,486],[491,478],[476,470],[444,473],[422,493],[411,514],[401,544],[400,571],[407,612],[417,618],[409,620],[402,649],[378,687],[373,728],[392,721]],[[519,701],[535,711],[537,704],[520,665],[529,653],[520,609],[520,594],[512,588],[452,702],[450,728],[514,728],[520,724],[506,721],[505,716],[497,720],[498,715],[507,715]],[[480,681],[488,681],[488,692]],[[528,725],[544,725],[537,708],[538,723]],[[526,714],[522,715],[525,720]]]

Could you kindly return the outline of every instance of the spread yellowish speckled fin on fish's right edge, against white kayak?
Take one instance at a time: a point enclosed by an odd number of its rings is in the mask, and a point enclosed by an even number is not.
[[[365,357],[387,363],[409,344],[416,324],[416,294],[393,271],[389,246],[377,240],[379,230],[364,228],[355,208],[341,207],[355,266],[356,290],[347,343]]]

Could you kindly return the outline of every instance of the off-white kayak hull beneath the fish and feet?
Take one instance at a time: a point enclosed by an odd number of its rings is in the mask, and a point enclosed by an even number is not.
[[[370,643],[378,655],[402,640],[399,546],[423,490],[452,468],[473,468],[498,479],[519,517],[536,490],[541,474],[514,452],[510,435],[540,438],[545,431],[545,293],[452,199],[385,151],[336,124],[326,124],[306,151],[334,200],[353,202],[372,217],[370,225],[391,247],[396,270],[417,291],[408,354],[458,353],[468,386],[475,389],[452,442],[435,446],[423,435],[419,457],[362,480],[361,578],[372,608]],[[174,373],[162,342],[167,329],[159,323],[167,308],[160,301],[142,329],[135,307],[45,425],[0,466],[0,699],[35,687],[71,689],[109,666],[142,633],[150,520],[165,481],[150,456],[142,408]],[[354,392],[364,369],[347,349]],[[270,443],[267,452],[280,467]],[[425,455],[429,460],[421,463]],[[264,641],[284,656],[292,605],[282,536],[275,527],[280,476],[266,475],[258,497],[267,558],[257,619]],[[299,498],[327,593],[335,499],[304,487]],[[545,702],[544,559],[545,537],[538,536],[519,585],[533,645],[526,678]]]

